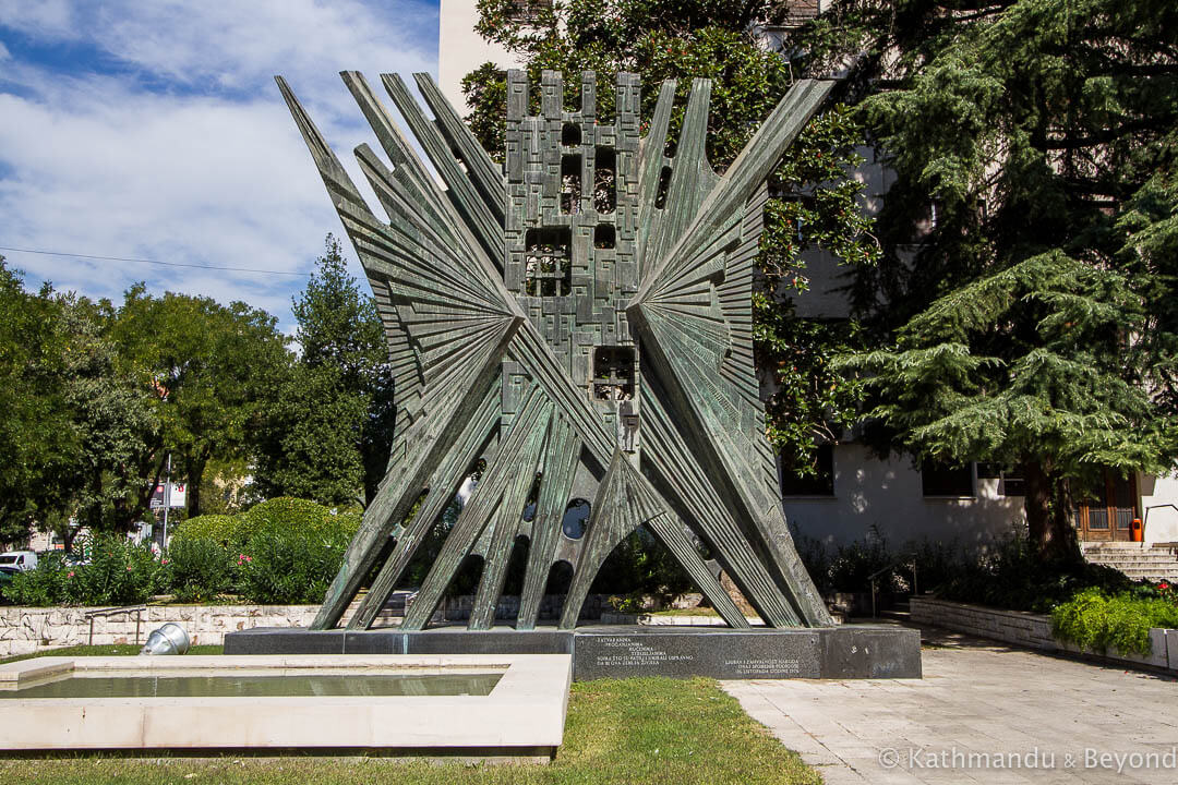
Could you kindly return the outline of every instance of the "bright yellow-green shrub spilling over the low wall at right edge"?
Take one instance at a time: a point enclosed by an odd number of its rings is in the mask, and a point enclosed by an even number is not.
[[[1086,588],[1051,612],[1052,633],[1059,640],[1099,652],[1150,653],[1151,627],[1178,627],[1178,605],[1138,592],[1108,596]]]

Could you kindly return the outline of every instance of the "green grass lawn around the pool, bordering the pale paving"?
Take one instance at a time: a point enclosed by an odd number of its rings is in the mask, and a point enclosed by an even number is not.
[[[79,652],[78,648],[85,650]],[[118,648],[119,651],[114,651]],[[217,646],[200,646],[214,651]],[[134,646],[80,646],[47,653],[133,653]],[[769,736],[712,679],[603,679],[573,685],[564,745],[548,766],[401,763],[378,758],[120,759],[85,756],[0,759],[0,781],[102,783],[626,783],[734,785],[806,783],[821,777]]]

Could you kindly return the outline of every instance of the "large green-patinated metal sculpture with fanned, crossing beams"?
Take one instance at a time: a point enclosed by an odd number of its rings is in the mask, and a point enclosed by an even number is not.
[[[781,512],[750,304],[766,179],[829,84],[794,85],[719,177],[706,157],[704,79],[669,157],[674,81],[642,137],[634,74],[617,75],[615,117],[600,118],[593,73],[580,109],[567,111],[562,76],[544,72],[531,115],[525,74],[509,72],[499,166],[429,75],[416,81],[434,119],[399,76],[382,75],[443,188],[364,78],[342,75],[392,165],[356,149],[388,220],[278,85],[372,286],[398,408],[388,475],[313,628],[336,627],[379,564],[348,627],[372,625],[478,460],[485,470],[403,630],[429,624],[470,554],[483,568],[469,628],[490,628],[522,537],[516,628],[536,626],[558,561],[573,567],[560,627],[575,627],[602,563],[637,526],[729,626],[748,621],[700,543],[767,625],[830,625]],[[562,519],[582,500],[590,514],[573,539]]]

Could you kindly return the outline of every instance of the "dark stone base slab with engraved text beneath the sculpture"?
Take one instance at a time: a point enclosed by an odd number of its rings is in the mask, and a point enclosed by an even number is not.
[[[730,630],[603,625],[516,631],[245,630],[226,654],[571,653],[576,680],[641,676],[716,679],[920,678],[920,633],[894,626]]]

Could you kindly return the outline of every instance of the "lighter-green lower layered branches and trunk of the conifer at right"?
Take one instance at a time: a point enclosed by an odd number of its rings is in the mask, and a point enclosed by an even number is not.
[[[894,348],[841,367],[867,375],[891,444],[1017,466],[1031,543],[1068,559],[1073,483],[1173,464],[1172,418],[1136,357],[1146,321],[1126,277],[1047,253],[946,294],[900,327]]]

